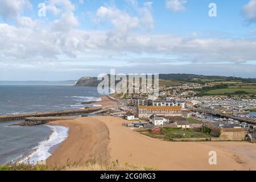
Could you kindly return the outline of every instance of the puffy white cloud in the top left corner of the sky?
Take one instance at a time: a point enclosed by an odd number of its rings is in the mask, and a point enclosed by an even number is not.
[[[15,20],[24,9],[32,9],[32,5],[28,0],[0,1],[0,15],[4,19]]]

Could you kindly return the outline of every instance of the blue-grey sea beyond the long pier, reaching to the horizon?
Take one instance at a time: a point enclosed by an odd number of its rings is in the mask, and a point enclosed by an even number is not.
[[[1,86],[0,114],[80,109],[100,100],[97,88],[75,86]]]

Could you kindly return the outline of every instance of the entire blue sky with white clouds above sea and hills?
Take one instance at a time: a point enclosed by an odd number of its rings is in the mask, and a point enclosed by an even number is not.
[[[256,77],[256,0],[0,0],[0,80]]]

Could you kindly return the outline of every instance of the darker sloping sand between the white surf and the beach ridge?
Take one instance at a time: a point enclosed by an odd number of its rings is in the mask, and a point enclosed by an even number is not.
[[[91,159],[108,160],[109,143],[108,128],[103,122],[89,117],[78,118],[76,121],[53,121],[52,126],[65,126],[69,128],[68,138],[60,144],[46,164],[50,166],[82,165]]]

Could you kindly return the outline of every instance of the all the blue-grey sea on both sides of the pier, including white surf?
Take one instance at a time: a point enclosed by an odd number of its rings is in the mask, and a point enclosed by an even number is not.
[[[82,102],[100,101],[100,97],[92,87],[0,85],[0,115],[80,109],[93,106]],[[10,126],[19,122],[23,120],[0,122],[0,165],[40,163],[68,137],[64,126]]]

